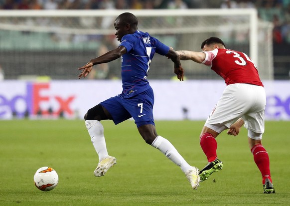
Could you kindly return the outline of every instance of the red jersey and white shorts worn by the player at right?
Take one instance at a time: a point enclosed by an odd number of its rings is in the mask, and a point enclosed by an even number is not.
[[[205,126],[221,133],[242,117],[248,136],[262,139],[266,94],[255,63],[245,53],[230,49],[203,52],[206,57],[202,64],[220,75],[227,85]]]

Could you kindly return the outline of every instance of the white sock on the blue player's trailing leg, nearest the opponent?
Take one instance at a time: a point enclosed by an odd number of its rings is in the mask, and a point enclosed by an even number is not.
[[[178,165],[183,173],[191,170],[191,166],[183,159],[175,147],[165,138],[157,136],[152,142],[152,146],[160,150],[169,160]]]

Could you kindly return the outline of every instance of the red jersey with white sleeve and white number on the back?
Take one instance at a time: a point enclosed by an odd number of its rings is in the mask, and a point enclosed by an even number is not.
[[[206,56],[202,64],[210,66],[224,78],[226,85],[247,83],[263,86],[255,63],[247,54],[230,49],[203,51]]]

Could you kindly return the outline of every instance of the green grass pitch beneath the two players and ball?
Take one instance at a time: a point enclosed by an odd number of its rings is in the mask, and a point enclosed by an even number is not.
[[[199,146],[203,121],[157,121],[188,161],[202,169]],[[290,205],[290,123],[266,122],[263,137],[270,154],[276,194],[263,194],[261,175],[248,148],[247,131],[222,133],[218,155],[223,170],[193,191],[181,170],[145,144],[133,121],[103,121],[109,154],[118,164],[105,177],[93,175],[98,158],[81,120],[0,121],[0,206],[257,206]],[[58,186],[49,192],[33,183],[35,171],[54,168]]]

